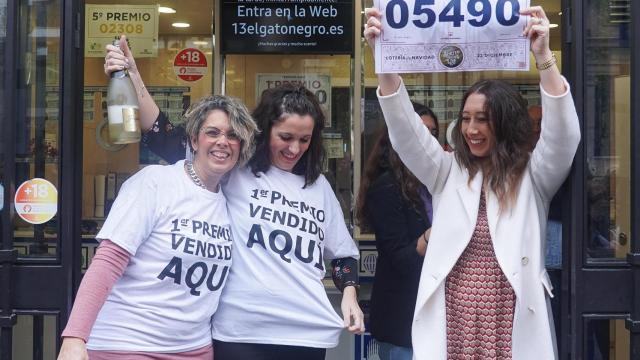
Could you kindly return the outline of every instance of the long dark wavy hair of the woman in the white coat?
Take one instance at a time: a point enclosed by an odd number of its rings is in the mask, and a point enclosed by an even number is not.
[[[484,95],[484,111],[489,117],[489,127],[495,137],[484,167],[480,159],[471,154],[462,134],[462,112],[472,94]],[[485,172],[487,184],[498,197],[501,210],[507,209],[516,200],[529,162],[532,136],[527,103],[509,83],[502,80],[481,80],[464,94],[458,121],[453,128],[454,154],[458,163],[469,171],[469,183],[479,170]]]

